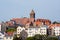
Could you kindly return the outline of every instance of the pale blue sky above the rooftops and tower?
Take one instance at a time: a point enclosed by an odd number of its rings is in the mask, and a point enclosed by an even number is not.
[[[60,21],[60,0],[0,0],[0,21],[29,18],[32,9],[36,18]]]

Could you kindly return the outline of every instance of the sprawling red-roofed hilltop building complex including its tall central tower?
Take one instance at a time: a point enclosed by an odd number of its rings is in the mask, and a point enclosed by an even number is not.
[[[6,25],[8,25],[8,27],[15,27],[16,25],[22,25],[22,26],[26,26],[26,24],[28,23],[32,23],[33,26],[41,26],[42,23],[43,25],[50,25],[51,21],[48,19],[35,19],[35,12],[34,10],[32,10],[30,12],[30,18],[27,17],[23,17],[23,18],[12,18],[10,19],[10,21],[6,22]]]

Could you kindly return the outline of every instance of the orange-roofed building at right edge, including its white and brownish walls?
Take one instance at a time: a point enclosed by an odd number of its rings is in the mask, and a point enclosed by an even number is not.
[[[49,33],[50,35],[53,35],[53,36],[59,36],[60,35],[60,24],[51,24],[49,26]]]

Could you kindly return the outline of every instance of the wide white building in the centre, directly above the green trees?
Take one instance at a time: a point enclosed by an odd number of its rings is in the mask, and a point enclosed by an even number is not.
[[[28,37],[32,37],[36,34],[40,34],[40,27],[29,27],[27,29]]]

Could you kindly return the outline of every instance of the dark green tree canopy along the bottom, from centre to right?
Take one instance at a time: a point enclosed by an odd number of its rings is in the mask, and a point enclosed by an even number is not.
[[[26,40],[58,40],[58,38],[38,34],[38,35],[35,35],[33,37],[28,37]]]

